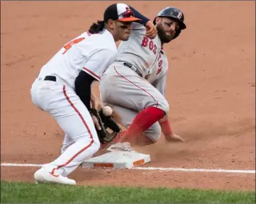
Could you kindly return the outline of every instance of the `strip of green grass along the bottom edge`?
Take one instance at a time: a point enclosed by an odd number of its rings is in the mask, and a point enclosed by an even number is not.
[[[1,203],[255,203],[255,192],[65,186],[1,180]]]

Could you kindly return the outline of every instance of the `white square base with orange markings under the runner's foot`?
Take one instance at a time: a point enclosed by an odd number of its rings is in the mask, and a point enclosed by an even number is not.
[[[135,151],[115,151],[83,161],[82,167],[130,169],[151,161],[150,155]]]

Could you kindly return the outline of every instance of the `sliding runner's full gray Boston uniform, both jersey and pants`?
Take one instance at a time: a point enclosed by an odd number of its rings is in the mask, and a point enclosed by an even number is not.
[[[104,72],[99,83],[102,102],[112,107],[120,118],[118,122],[125,127],[139,111],[149,106],[165,113],[169,111],[165,99],[168,59],[158,35],[151,40],[144,34],[145,27],[133,22],[130,38],[120,43],[117,60]],[[160,132],[160,124],[156,122],[145,135],[155,142]]]

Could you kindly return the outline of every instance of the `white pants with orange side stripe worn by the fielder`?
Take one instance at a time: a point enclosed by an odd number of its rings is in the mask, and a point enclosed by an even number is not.
[[[53,81],[37,78],[30,90],[33,103],[48,112],[65,132],[62,154],[44,168],[58,170],[67,177],[86,158],[91,158],[100,148],[94,122],[86,106],[73,88]],[[58,79],[57,79],[58,81]]]

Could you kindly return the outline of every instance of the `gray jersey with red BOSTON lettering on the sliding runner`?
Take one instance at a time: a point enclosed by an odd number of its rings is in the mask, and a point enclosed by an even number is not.
[[[168,71],[168,59],[162,49],[160,38],[146,38],[145,27],[133,22],[133,31],[128,41],[122,41],[118,47],[117,61],[127,61],[151,84],[157,85],[162,95],[165,95],[165,80],[162,79]],[[162,80],[161,80],[162,79]],[[157,82],[157,80],[159,80]]]

